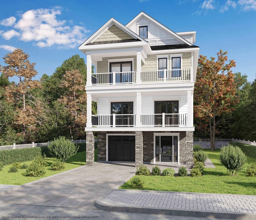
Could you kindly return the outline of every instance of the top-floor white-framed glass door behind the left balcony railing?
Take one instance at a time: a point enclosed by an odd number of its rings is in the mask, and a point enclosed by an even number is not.
[[[132,61],[110,63],[110,73],[116,72],[116,83],[132,83]],[[112,75],[110,76],[110,83]]]

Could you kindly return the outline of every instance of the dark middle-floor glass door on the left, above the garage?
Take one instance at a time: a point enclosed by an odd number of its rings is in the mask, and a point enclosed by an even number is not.
[[[133,102],[111,102],[111,114],[116,114],[116,126],[132,126]]]

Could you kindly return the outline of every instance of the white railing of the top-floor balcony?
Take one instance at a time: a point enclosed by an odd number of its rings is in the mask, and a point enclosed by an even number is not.
[[[141,71],[140,78],[142,83],[190,81],[190,72],[190,69]],[[134,83],[137,83],[137,73],[134,71],[92,73],[92,85],[114,85]]]

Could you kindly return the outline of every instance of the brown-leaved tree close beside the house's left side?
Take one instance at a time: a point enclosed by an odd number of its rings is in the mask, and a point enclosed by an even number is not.
[[[77,139],[79,133],[84,134],[86,126],[86,93],[80,71],[66,71],[61,86],[65,88],[65,92],[58,101],[64,103],[65,108],[70,112],[72,121],[70,134],[73,139]]]

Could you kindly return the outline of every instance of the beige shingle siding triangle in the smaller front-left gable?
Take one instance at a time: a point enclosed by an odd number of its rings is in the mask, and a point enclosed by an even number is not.
[[[106,30],[100,37],[98,37],[94,42],[101,41],[116,41],[116,40],[128,40],[134,39],[128,33],[124,32],[115,25],[112,25],[108,30]]]

